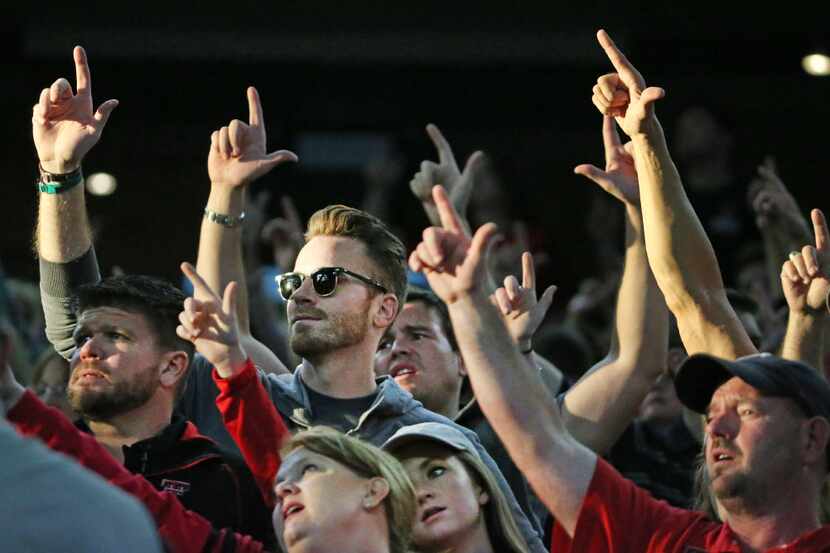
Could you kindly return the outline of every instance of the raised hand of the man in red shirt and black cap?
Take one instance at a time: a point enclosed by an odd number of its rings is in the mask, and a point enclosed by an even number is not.
[[[486,256],[496,225],[481,226],[471,239],[446,190],[436,186],[432,197],[441,226],[424,230],[423,241],[409,256],[410,268],[423,271],[432,290],[447,305],[474,293],[486,296]]]

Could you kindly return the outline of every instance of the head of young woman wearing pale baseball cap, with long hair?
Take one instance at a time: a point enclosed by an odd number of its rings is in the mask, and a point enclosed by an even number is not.
[[[507,500],[461,431],[434,422],[406,426],[383,449],[415,485],[412,541],[419,551],[527,553]]]

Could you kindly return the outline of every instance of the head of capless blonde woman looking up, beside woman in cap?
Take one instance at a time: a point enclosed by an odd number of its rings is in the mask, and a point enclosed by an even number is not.
[[[415,516],[406,471],[377,447],[312,428],[283,449],[274,530],[289,553],[404,553]]]

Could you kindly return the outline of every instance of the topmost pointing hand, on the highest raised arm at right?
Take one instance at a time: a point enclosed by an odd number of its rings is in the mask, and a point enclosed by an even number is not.
[[[642,134],[654,116],[654,102],[666,95],[662,88],[646,87],[646,81],[604,30],[597,40],[616,73],[603,75],[594,85],[591,100],[603,115],[614,116],[629,137]]]

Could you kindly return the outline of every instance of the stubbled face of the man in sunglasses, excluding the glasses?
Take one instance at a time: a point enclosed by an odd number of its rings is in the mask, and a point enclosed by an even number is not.
[[[374,278],[378,275],[365,246],[352,238],[315,236],[300,250],[294,271],[309,275],[322,267],[343,267]],[[359,344],[371,327],[375,292],[346,275],[338,277],[330,296],[320,297],[306,278],[287,302],[291,349],[304,358]]]

